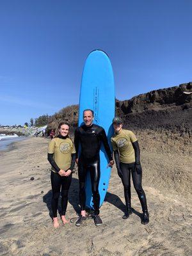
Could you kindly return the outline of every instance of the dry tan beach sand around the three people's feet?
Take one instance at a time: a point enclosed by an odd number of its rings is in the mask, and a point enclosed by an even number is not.
[[[54,229],[49,140],[30,138],[0,152],[0,255],[192,255],[191,141],[150,131],[138,132],[138,138],[150,212],[148,225],[141,225],[141,206],[133,187],[134,213],[122,220],[123,187],[113,168],[100,211],[104,224],[95,227],[89,219],[82,227],[70,223]],[[77,218],[77,172],[68,199],[67,216]]]

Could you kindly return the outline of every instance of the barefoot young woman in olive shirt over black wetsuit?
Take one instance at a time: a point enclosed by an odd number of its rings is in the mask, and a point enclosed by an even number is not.
[[[68,136],[69,125],[62,122],[56,129],[54,138],[49,142],[48,161],[51,163],[51,186],[53,213],[53,225],[59,227],[57,211],[58,198],[61,189],[61,220],[63,224],[68,223],[65,212],[68,203],[68,189],[72,181],[72,170],[76,162],[76,150],[72,140]]]

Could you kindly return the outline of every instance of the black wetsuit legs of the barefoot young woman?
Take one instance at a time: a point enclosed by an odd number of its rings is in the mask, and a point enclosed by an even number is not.
[[[61,189],[61,215],[65,215],[68,203],[68,189],[70,188],[72,174],[68,177],[61,177],[58,173],[51,172],[52,200],[51,207],[53,218],[57,216],[58,199]]]

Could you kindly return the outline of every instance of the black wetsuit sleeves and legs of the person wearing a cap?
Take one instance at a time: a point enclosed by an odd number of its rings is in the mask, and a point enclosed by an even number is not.
[[[141,180],[142,180],[142,168],[140,163],[140,147],[138,141],[132,143],[135,152],[135,163],[122,163],[119,160],[118,150],[114,151],[116,168],[118,170],[118,175],[122,179],[124,185],[124,195],[125,195],[125,204],[127,211],[131,209],[131,175],[134,189],[138,194],[140,199],[141,207],[143,212],[148,212],[147,210],[147,200],[145,192],[143,191]]]

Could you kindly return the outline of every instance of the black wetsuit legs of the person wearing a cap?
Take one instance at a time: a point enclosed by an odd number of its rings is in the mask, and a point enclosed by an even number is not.
[[[141,207],[143,212],[147,212],[147,200],[145,192],[143,191],[141,180],[142,172],[138,174],[134,170],[134,163],[125,164],[120,163],[120,170],[122,172],[122,183],[124,185],[124,194],[125,194],[125,204],[127,209],[131,208],[131,175],[132,182],[134,184],[134,189],[136,190],[138,197],[140,199]]]

